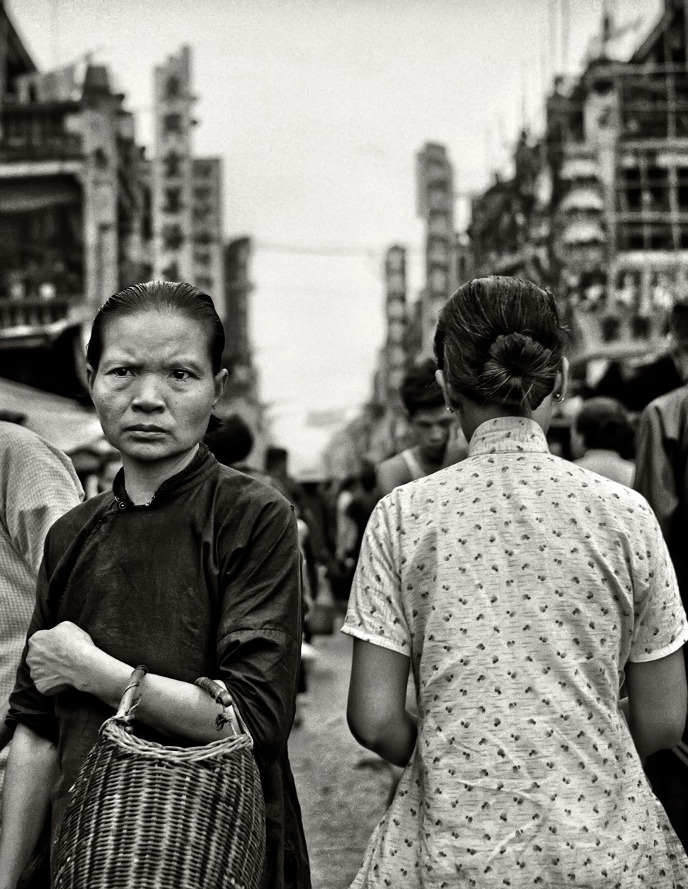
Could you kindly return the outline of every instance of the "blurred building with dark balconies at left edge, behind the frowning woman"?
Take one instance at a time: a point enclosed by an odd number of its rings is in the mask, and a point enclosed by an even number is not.
[[[149,274],[142,149],[107,68],[42,74],[0,4],[0,376],[73,395],[99,304]]]

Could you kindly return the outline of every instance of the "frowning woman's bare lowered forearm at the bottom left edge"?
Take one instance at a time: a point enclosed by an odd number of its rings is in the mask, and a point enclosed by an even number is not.
[[[26,725],[18,725],[4,776],[0,889],[15,889],[34,851],[57,774],[57,747]]]

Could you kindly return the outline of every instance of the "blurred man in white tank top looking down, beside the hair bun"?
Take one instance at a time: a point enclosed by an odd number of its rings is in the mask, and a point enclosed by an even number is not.
[[[436,369],[434,359],[427,358],[411,367],[403,380],[400,396],[415,444],[377,467],[377,490],[381,497],[397,485],[429,476],[466,456],[463,432],[447,412],[435,380]]]

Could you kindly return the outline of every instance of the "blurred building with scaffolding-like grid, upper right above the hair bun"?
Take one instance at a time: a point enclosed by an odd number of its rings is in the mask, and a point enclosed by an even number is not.
[[[581,76],[556,80],[530,162],[522,139],[513,177],[473,204],[478,270],[553,286],[581,352],[652,348],[688,300],[686,7],[666,0],[624,58],[606,17]]]

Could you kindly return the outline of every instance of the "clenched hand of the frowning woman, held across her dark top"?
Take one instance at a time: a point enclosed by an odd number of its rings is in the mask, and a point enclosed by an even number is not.
[[[39,629],[28,640],[28,669],[41,694],[57,694],[82,687],[98,651],[88,633],[62,621],[52,629]]]

